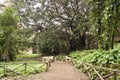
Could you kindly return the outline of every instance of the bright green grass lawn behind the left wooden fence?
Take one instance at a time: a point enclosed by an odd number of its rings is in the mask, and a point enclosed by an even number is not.
[[[2,68],[4,64],[6,65],[8,71],[8,76],[14,76],[14,73],[9,70],[14,70],[17,73],[20,73],[22,75],[29,75],[29,74],[36,74],[39,72],[46,71],[46,65],[38,60],[33,60],[33,58],[39,58],[40,54],[28,54],[28,53],[22,53],[18,54],[16,56],[15,61],[10,62],[0,62],[0,77],[4,74],[4,69]],[[21,59],[21,60],[18,60]],[[23,60],[22,60],[23,59]],[[25,60],[24,60],[25,59]],[[27,60],[28,59],[28,60]],[[26,72],[25,72],[25,65],[24,63],[27,63],[26,66]],[[18,68],[19,67],[19,68]]]

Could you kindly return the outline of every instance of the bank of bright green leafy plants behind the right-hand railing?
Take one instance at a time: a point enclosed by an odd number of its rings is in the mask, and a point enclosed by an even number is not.
[[[120,63],[120,50],[119,47],[104,50],[88,50],[84,52],[77,52],[70,54],[71,57],[78,60],[78,62],[86,62],[94,65],[109,67],[111,64]]]

